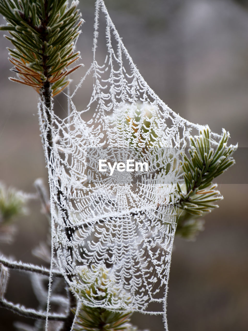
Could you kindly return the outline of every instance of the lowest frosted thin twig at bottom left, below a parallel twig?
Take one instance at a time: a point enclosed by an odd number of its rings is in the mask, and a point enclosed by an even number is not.
[[[42,320],[46,320],[46,318],[47,318],[47,314],[44,311],[37,311],[32,308],[26,308],[19,304],[13,304],[11,301],[8,301],[5,299],[0,300],[0,307],[6,308],[20,316],[27,317],[27,318],[42,319]],[[67,316],[60,315],[60,314],[49,314],[48,319],[50,321],[65,321],[67,319]]]

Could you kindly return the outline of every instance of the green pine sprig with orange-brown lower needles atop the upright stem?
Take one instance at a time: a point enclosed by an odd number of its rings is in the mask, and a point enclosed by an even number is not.
[[[66,0],[0,0],[0,13],[7,21],[1,30],[15,46],[9,50],[12,71],[18,78],[11,80],[32,86],[37,92],[49,83],[52,95],[60,93],[69,83],[68,67],[79,59],[74,41],[83,22],[76,2],[67,7]]]

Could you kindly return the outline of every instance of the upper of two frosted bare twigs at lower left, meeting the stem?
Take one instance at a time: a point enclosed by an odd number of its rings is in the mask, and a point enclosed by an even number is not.
[[[50,270],[44,268],[43,266],[38,266],[34,264],[29,264],[29,263],[23,263],[23,262],[12,262],[10,260],[5,259],[3,256],[0,258],[0,263],[2,263],[4,266],[10,269],[16,269],[20,271],[28,271],[28,272],[35,272],[39,273],[41,275],[50,275]],[[54,277],[59,277],[63,278],[63,275],[60,271],[53,271],[53,276]]]

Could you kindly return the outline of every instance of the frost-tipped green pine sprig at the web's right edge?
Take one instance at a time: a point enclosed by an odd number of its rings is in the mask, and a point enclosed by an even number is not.
[[[235,164],[232,154],[237,146],[227,147],[228,138],[223,129],[218,146],[211,147],[208,127],[199,136],[190,137],[189,155],[181,161],[184,183],[177,183],[180,213],[176,233],[183,237],[192,239],[203,228],[199,217],[219,207],[215,203],[223,199],[213,180]]]

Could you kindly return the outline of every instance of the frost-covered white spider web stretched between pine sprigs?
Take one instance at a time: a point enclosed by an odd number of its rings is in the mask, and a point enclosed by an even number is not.
[[[180,159],[192,130],[203,127],[174,113],[148,86],[102,0],[96,1],[94,27],[93,62],[67,96],[70,114],[62,119],[51,110],[48,122],[45,105],[39,107],[51,194],[51,270],[57,265],[79,303],[162,314],[168,330]],[[76,109],[74,97],[89,77],[90,101]],[[148,171],[140,166],[110,175],[107,167],[99,171],[99,160],[147,163]]]

